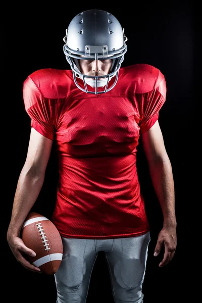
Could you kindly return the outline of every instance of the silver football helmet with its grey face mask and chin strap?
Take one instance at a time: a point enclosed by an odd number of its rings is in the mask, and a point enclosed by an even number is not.
[[[67,62],[73,71],[74,82],[78,88],[87,93],[105,93],[117,83],[119,69],[127,52],[127,37],[121,24],[112,14],[102,10],[88,10],[75,16],[66,29],[63,47]],[[88,76],[81,73],[79,60],[112,59],[110,73],[104,76]],[[116,79],[108,88],[112,77]],[[77,77],[84,83],[82,88]],[[94,87],[94,91],[87,89],[87,84]],[[97,87],[104,87],[97,91]]]

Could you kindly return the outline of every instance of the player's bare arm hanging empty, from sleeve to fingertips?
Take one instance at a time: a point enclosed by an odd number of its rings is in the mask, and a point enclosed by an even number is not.
[[[158,256],[162,245],[164,245],[164,258],[159,264],[162,267],[173,259],[177,236],[172,167],[158,120],[153,127],[142,133],[142,146],[164,217],[163,228],[159,233],[154,254]]]

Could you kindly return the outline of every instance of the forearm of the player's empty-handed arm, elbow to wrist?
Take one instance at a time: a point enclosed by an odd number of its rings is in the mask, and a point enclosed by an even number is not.
[[[169,158],[150,164],[149,172],[163,212],[164,226],[176,226],[174,180]]]

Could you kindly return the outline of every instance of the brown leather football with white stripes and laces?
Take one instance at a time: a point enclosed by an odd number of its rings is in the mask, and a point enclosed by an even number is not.
[[[30,262],[41,272],[54,275],[62,261],[63,243],[53,222],[40,214],[29,213],[21,237],[25,245],[36,252],[36,257],[28,256]]]

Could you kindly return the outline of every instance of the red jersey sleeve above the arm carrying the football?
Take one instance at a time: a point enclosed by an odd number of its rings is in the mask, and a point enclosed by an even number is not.
[[[48,99],[44,98],[30,76],[23,83],[25,110],[31,118],[31,127],[41,135],[53,140],[55,128]]]

